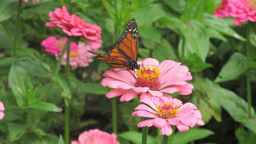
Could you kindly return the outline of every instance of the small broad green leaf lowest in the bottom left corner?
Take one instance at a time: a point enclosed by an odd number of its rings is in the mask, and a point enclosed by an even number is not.
[[[26,124],[11,123],[8,126],[9,138],[11,141],[19,140],[24,133],[27,132]]]

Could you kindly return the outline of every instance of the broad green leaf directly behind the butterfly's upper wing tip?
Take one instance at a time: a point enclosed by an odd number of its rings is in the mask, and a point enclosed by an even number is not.
[[[138,24],[138,29],[140,30],[142,26],[153,23],[157,19],[163,17],[164,14],[165,13],[161,9],[158,9],[152,6],[146,6],[133,11],[131,13],[131,16],[134,19],[136,19],[136,22]]]

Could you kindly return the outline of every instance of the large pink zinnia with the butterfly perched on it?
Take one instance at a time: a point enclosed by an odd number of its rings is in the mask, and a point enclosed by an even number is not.
[[[123,95],[120,101],[129,101],[138,94],[141,94],[140,99],[169,96],[163,92],[188,95],[194,88],[186,82],[191,80],[192,76],[188,68],[181,66],[180,62],[165,60],[159,64],[156,59],[146,58],[138,63],[143,67],[136,71],[136,78],[132,71],[114,72],[120,69],[112,69],[103,74],[106,78],[102,80],[102,85],[115,88],[108,92],[106,97]]]

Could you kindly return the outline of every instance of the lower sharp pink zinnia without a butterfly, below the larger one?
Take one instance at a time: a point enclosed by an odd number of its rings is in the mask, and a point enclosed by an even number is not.
[[[145,104],[138,105],[132,113],[132,117],[150,117],[153,119],[141,121],[138,127],[155,126],[160,128],[162,135],[172,134],[171,125],[176,125],[180,132],[187,131],[189,127],[193,128],[196,124],[204,125],[201,120],[202,115],[197,107],[188,102],[184,105],[182,101],[167,97],[152,97],[151,99],[142,99],[140,102]]]

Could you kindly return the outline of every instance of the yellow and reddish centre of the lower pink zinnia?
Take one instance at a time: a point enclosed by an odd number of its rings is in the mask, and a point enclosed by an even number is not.
[[[164,106],[159,104],[157,106],[157,117],[163,118],[163,119],[169,119],[169,118],[174,118],[176,117],[176,113],[179,112],[177,110],[178,105],[175,104],[175,107],[171,106],[172,103],[165,103]]]

